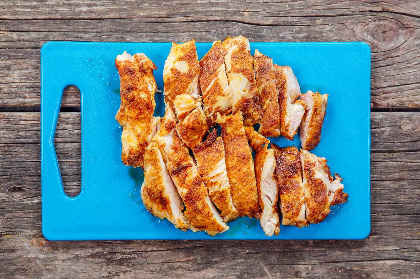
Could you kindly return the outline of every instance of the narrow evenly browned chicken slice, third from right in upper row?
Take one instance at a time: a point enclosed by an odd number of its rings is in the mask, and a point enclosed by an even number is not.
[[[278,137],[280,135],[280,107],[273,59],[255,49],[254,70],[262,106],[258,132],[265,137]]]

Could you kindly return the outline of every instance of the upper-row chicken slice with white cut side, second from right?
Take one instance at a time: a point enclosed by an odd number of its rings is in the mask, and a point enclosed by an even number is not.
[[[274,65],[278,102],[280,103],[280,133],[293,140],[305,112],[302,101],[296,100],[300,87],[291,67]]]

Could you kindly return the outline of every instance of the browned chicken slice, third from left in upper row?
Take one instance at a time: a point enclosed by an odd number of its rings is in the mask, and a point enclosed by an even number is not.
[[[232,111],[232,93],[226,75],[223,46],[215,41],[212,48],[199,61],[204,112],[209,127],[214,126],[217,113],[228,115]]]

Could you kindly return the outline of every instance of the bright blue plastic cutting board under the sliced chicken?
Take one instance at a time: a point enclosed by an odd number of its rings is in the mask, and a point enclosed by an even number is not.
[[[199,59],[211,43],[197,43]],[[125,239],[362,239],[370,232],[370,48],[362,42],[251,43],[289,65],[307,90],[328,93],[322,140],[312,152],[328,159],[332,172],[344,178],[349,201],[331,208],[320,224],[299,229],[281,226],[277,237],[265,236],[259,221],[242,217],[230,230],[211,237],[182,232],[153,217],[139,198],[141,168],[121,163],[121,132],[115,121],[120,106],[117,54],[144,52],[158,67],[163,90],[163,64],[170,43],[48,42],[41,49],[42,233],[48,240]],[[81,192],[64,193],[54,148],[63,89],[81,92]],[[163,116],[163,94],[156,93],[156,116]],[[294,141],[271,138],[279,146]]]

